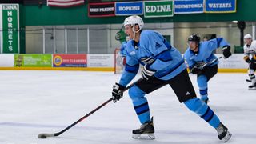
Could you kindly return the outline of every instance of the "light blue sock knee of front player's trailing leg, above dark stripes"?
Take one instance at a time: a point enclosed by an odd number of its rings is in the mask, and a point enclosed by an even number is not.
[[[202,116],[206,113],[206,110],[209,106],[205,102],[202,102],[199,98],[191,98],[184,102],[187,108],[191,111],[194,111],[199,116]]]

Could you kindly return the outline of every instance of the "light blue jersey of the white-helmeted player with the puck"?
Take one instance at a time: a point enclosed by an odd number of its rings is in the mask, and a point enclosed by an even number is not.
[[[139,42],[130,40],[126,44],[126,68],[119,84],[126,86],[137,74],[139,63],[148,64],[155,70],[154,76],[169,80],[186,69],[182,55],[154,30],[142,30]]]

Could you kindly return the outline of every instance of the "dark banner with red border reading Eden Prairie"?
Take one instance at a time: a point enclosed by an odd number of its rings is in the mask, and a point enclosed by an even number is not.
[[[104,3],[89,3],[88,16],[89,17],[110,17],[114,16],[114,2]]]

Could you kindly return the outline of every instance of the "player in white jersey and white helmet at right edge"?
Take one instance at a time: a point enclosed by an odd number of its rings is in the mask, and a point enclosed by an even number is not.
[[[252,85],[249,86],[249,89],[256,87],[256,80],[254,72],[256,70],[256,41],[252,40],[250,34],[246,34],[244,36],[244,40],[246,42],[245,46],[243,46],[244,50],[244,60],[249,64],[249,77]]]

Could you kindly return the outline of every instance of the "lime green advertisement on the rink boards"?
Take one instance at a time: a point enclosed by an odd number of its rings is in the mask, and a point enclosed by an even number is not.
[[[52,67],[51,54],[15,54],[15,67]]]

